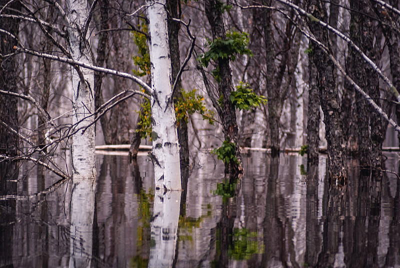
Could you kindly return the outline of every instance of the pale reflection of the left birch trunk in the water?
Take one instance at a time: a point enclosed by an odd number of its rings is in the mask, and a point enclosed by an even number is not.
[[[90,267],[95,188],[95,179],[73,180],[69,267]]]

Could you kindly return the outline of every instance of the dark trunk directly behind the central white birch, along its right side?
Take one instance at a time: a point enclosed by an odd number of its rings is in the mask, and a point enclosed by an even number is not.
[[[172,66],[172,82],[175,81],[176,75],[180,69],[180,53],[179,53],[179,21],[172,20],[172,18],[180,19],[180,1],[179,0],[167,0],[167,16],[168,16],[168,38],[169,38],[169,54],[171,57]],[[182,83],[179,78],[177,81],[176,91],[174,97],[182,97]],[[187,118],[189,119],[189,118]],[[179,158],[180,158],[180,170],[185,170],[184,167],[189,166],[189,143],[187,134],[187,123],[186,121],[180,120],[177,125],[178,140],[179,140]],[[187,169],[187,168],[186,168]],[[181,172],[181,179],[184,180],[184,172]]]

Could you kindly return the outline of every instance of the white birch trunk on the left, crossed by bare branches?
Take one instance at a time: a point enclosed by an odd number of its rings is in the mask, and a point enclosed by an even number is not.
[[[89,15],[87,0],[67,0],[65,11],[67,24],[70,25],[67,30],[69,52],[73,59],[91,64],[89,34],[83,32]],[[86,68],[80,70],[83,77],[79,77],[76,69],[71,67],[72,107],[75,109],[72,116],[73,130],[84,128],[94,119],[94,116],[83,119],[94,112],[94,72]],[[95,177],[94,145],[94,124],[84,133],[80,129],[73,135],[71,146],[73,177]]]

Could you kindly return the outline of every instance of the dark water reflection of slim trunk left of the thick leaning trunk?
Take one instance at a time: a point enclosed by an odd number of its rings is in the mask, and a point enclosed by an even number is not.
[[[306,226],[304,262],[315,267],[321,250],[318,224],[318,163],[307,165]]]

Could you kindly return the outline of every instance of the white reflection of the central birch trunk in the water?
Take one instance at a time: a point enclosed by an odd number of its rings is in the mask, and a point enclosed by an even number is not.
[[[155,193],[148,267],[171,267],[175,255],[180,191]]]

